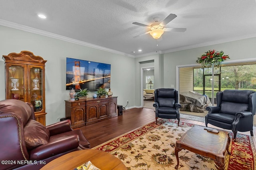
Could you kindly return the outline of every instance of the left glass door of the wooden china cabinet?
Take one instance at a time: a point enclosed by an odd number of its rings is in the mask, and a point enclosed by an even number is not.
[[[6,98],[17,99],[26,102],[25,90],[26,84],[24,84],[24,72],[25,68],[21,65],[9,64],[8,71],[6,72]]]

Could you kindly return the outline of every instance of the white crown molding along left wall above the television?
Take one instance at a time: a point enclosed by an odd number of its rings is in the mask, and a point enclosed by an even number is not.
[[[78,44],[78,45],[83,45],[83,46],[86,46],[86,47],[92,47],[94,49],[100,49],[100,50],[103,50],[103,51],[108,51],[110,53],[115,53],[115,54],[124,55],[124,56],[134,58],[134,55],[130,55],[130,54],[127,54],[127,53],[122,53],[120,51],[116,51],[116,50],[113,50],[113,49],[108,49],[108,48],[101,47],[101,46],[98,46],[98,45],[86,43],[84,41],[79,41],[79,40],[76,40],[76,39],[64,37],[62,35],[50,33],[50,32],[47,32],[47,31],[42,31],[40,29],[35,29],[35,28],[32,28],[32,27],[20,25],[18,23],[13,23],[13,22],[6,21],[6,20],[0,20],[0,25],[6,26],[6,27],[12,27],[12,28],[15,28],[15,29],[20,29],[22,31],[27,31],[27,32],[30,32],[30,33],[36,33],[36,34],[39,34],[39,35],[44,35],[46,37],[60,39],[60,40],[63,40],[63,41],[68,41],[70,43],[75,43],[75,44]]]

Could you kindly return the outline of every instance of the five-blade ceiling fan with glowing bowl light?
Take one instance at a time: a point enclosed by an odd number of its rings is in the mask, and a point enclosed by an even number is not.
[[[186,28],[166,28],[166,27],[164,27],[166,24],[168,24],[170,21],[172,21],[176,17],[177,16],[175,14],[170,14],[162,22],[159,22],[159,17],[155,17],[154,18],[155,22],[152,23],[151,25],[145,25],[143,23],[133,22],[133,24],[135,24],[135,25],[139,25],[142,27],[148,27],[149,29],[151,29],[151,31],[134,36],[134,38],[150,33],[150,35],[154,39],[159,39],[165,31],[185,32],[187,30]]]

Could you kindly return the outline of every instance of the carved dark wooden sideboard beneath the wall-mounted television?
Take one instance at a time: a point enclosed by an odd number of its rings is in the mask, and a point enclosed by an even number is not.
[[[72,128],[118,116],[116,96],[76,101],[65,100],[65,102],[66,118],[70,119]]]

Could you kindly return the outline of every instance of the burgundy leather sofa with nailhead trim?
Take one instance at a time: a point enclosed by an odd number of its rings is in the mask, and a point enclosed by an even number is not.
[[[35,121],[32,104],[15,99],[0,101],[0,135],[1,170],[36,170],[69,152],[90,149],[70,120],[44,126]]]

